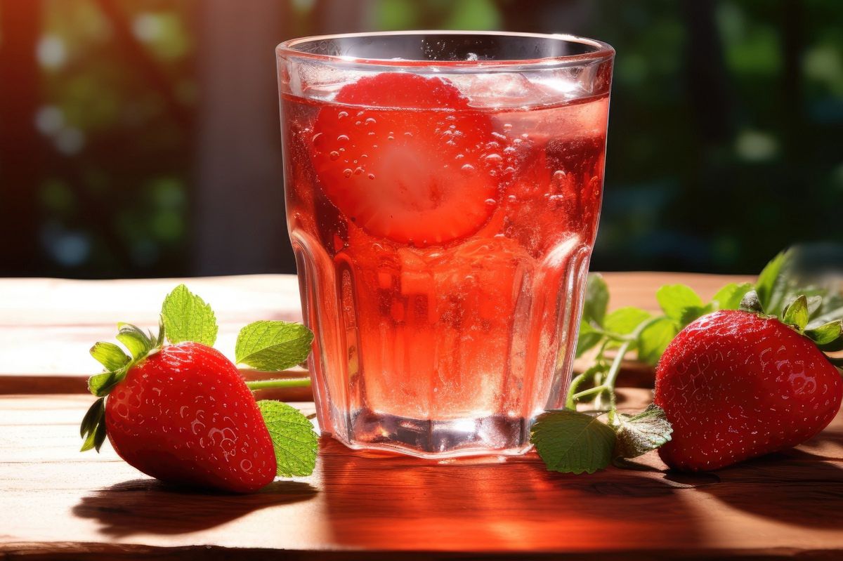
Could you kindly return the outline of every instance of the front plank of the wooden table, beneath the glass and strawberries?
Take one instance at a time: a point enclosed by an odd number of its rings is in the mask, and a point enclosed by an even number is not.
[[[624,395],[635,409],[648,393]],[[323,439],[312,476],[241,496],[169,488],[108,445],[79,453],[89,401],[0,398],[0,558],[843,558],[840,417],[699,476],[654,454],[648,471],[570,476],[533,454],[427,462]]]

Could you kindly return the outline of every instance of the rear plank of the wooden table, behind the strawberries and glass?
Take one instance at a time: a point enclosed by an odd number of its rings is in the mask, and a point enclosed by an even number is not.
[[[638,306],[656,312],[659,286],[682,282],[703,298],[743,276],[673,273],[605,273],[610,307]],[[185,282],[212,304],[220,323],[217,349],[233,357],[237,333],[257,319],[301,321],[295,275],[245,275],[198,279],[58,280],[0,279],[0,394],[85,393],[85,380],[99,371],[88,350],[112,340],[117,321],[155,329],[161,301]],[[247,373],[266,377],[260,373]],[[652,371],[626,365],[621,384],[652,384]],[[308,393],[282,392],[286,399]]]

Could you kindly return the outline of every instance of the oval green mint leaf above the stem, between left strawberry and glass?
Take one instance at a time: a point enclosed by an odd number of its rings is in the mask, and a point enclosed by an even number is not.
[[[313,339],[301,323],[250,323],[237,335],[235,362],[265,371],[292,368],[308,357]]]

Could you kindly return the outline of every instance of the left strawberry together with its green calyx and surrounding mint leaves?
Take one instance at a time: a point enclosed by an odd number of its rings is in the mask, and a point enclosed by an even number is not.
[[[105,371],[89,379],[99,399],[83,419],[83,451],[99,451],[107,436],[143,473],[233,492],[311,473],[317,437],[309,420],[285,403],[255,403],[236,366],[210,346],[216,337],[211,308],[182,285],[164,300],[157,337],[120,324],[117,339],[130,355],[112,343],[94,345]],[[236,355],[265,371],[284,370],[306,358],[312,337],[299,324],[256,322],[241,332]]]

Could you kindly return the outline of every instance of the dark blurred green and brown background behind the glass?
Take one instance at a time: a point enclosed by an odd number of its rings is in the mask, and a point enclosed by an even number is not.
[[[379,29],[615,46],[595,270],[843,241],[840,0],[0,0],[0,275],[293,272],[273,47]]]

